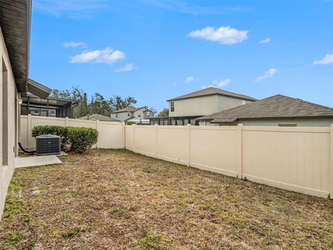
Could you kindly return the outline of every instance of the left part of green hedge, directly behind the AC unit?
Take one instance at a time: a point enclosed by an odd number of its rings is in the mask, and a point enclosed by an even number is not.
[[[66,150],[67,145],[69,144],[69,135],[68,129],[64,126],[53,126],[53,125],[44,125],[44,126],[35,126],[31,131],[34,138],[39,135],[58,135],[61,140],[61,149]]]

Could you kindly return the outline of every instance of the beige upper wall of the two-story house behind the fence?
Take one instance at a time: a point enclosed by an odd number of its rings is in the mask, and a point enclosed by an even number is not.
[[[175,110],[173,112],[171,112],[171,102],[175,105]],[[169,116],[182,117],[210,115],[229,108],[241,106],[249,102],[251,101],[234,97],[226,97],[220,94],[169,101]]]

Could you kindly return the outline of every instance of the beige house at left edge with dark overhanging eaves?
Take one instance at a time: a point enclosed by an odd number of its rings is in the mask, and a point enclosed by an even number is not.
[[[31,1],[0,1],[0,217],[18,155],[22,97],[47,98],[49,88],[28,82]]]

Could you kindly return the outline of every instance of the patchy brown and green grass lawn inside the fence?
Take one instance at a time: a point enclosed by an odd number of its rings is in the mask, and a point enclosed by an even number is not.
[[[0,249],[332,249],[333,202],[126,150],[16,169]]]

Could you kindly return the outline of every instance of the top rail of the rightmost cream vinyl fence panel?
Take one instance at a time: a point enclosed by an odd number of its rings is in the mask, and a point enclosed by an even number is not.
[[[330,127],[243,126],[242,129],[258,132],[330,133]]]

